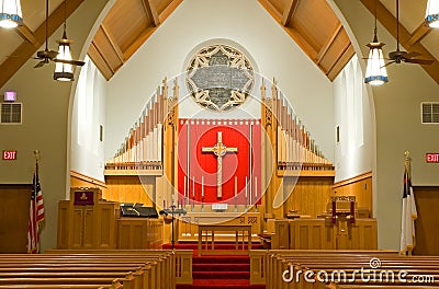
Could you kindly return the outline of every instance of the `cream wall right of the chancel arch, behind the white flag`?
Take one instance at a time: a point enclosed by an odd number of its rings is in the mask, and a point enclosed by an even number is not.
[[[348,21],[362,55],[373,37],[373,15],[360,1],[331,0]],[[395,39],[379,25],[384,53],[395,49]],[[412,153],[414,185],[438,185],[439,166],[425,163],[425,153],[438,151],[439,126],[420,124],[420,102],[438,101],[439,85],[417,65],[387,68],[390,82],[373,88],[376,122],[376,167],[374,167],[374,216],[379,247],[399,247],[404,152]]]

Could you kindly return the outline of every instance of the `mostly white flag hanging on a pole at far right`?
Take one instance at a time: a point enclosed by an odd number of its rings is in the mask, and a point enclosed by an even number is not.
[[[401,224],[401,254],[412,252],[416,245],[415,220],[418,218],[410,175],[406,165],[404,172],[404,195]]]

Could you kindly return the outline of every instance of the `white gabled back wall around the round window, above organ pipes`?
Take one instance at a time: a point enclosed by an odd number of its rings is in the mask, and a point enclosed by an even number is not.
[[[254,0],[185,0],[109,82],[105,159],[138,119],[164,77],[184,71],[189,54],[211,39],[238,43],[280,89],[326,157],[334,160],[333,86]]]

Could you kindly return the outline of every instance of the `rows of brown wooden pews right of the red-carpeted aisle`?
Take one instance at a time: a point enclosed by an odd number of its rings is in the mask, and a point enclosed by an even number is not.
[[[278,252],[279,253],[279,252]],[[346,254],[342,252],[341,254],[337,254],[335,251],[333,253],[323,253],[323,254],[297,254],[295,255],[292,252],[282,252],[282,254],[268,254],[268,273],[267,273],[267,288],[326,288],[326,284],[322,282],[309,282],[306,281],[302,276],[300,277],[299,284],[286,284],[282,281],[282,273],[285,269],[289,269],[291,266],[294,268],[295,273],[297,270],[306,271],[312,270],[314,273],[319,270],[325,270],[327,274],[339,273],[342,270],[347,274],[347,280],[349,284],[342,282],[331,282],[328,288],[363,288],[363,286],[370,286],[370,284],[361,280],[359,275],[356,275],[354,271],[359,270],[361,267],[364,269],[371,269],[369,266],[369,261],[372,257],[380,257],[381,266],[376,267],[378,271],[389,271],[392,270],[397,274],[398,270],[406,270],[409,275],[407,275],[407,279],[410,276],[419,275],[427,276],[429,278],[434,278],[434,282],[431,284],[423,284],[423,288],[439,288],[439,257],[437,256],[423,256],[423,257],[402,257],[394,254],[381,254],[381,252],[368,252],[367,254],[361,254],[361,252],[356,252],[354,254]],[[358,273],[357,273],[358,274]],[[273,277],[274,276],[274,277]],[[296,276],[294,276],[296,277]],[[384,276],[385,277],[385,276]],[[397,277],[395,277],[397,279]],[[376,280],[376,279],[375,279]],[[370,288],[380,288],[379,286],[387,286],[389,282],[386,280],[374,282]],[[414,284],[406,284],[399,280],[395,280],[392,282],[394,287],[397,288],[416,288],[418,286],[414,286]],[[416,284],[415,284],[416,285]]]

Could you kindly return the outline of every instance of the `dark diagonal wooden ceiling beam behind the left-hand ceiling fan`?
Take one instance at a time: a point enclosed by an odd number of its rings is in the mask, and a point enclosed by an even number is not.
[[[85,0],[69,0],[69,4],[65,10],[64,5],[59,5],[48,18],[48,36],[64,23],[65,15],[68,18]],[[66,14],[65,14],[66,13]],[[45,43],[46,41],[46,21],[33,33],[36,43]],[[61,35],[59,35],[60,37]],[[0,88],[36,53],[35,47],[30,42],[22,43],[10,57],[0,65]],[[12,57],[13,56],[13,57]],[[16,56],[16,57],[15,57]]]

